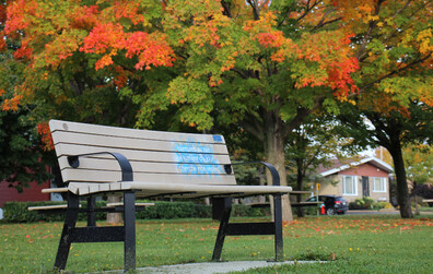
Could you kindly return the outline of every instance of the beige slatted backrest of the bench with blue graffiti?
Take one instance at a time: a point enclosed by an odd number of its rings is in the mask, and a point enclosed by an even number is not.
[[[120,181],[120,168],[109,155],[80,158],[72,168],[67,156],[117,152],[132,166],[134,181],[235,184],[227,175],[227,147],[222,135],[125,129],[51,120],[49,122],[65,182]]]

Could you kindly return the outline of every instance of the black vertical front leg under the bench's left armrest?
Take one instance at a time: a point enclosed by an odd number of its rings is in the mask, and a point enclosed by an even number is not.
[[[124,193],[125,271],[136,270],[136,194]]]

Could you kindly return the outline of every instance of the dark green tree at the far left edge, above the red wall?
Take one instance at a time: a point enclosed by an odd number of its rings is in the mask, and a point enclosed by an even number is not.
[[[0,1],[0,32],[5,19],[5,3]],[[31,181],[44,182],[50,177],[46,165],[49,157],[44,153],[36,123],[27,119],[28,110],[19,106],[20,97],[13,91],[25,68],[13,60],[16,48],[0,39],[0,182],[22,192]]]

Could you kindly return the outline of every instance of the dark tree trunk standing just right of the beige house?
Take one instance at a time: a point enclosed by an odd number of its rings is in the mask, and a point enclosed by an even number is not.
[[[389,153],[393,156],[394,168],[397,181],[397,202],[400,206],[400,216],[402,218],[412,218],[412,210],[409,199],[409,188],[406,178],[405,162],[402,158],[401,144],[398,140],[391,142]]]

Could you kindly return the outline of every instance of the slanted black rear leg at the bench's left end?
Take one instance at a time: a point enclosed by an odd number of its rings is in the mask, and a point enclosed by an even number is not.
[[[69,249],[72,243],[72,230],[75,228],[75,223],[79,213],[80,199],[78,195],[69,193],[68,209],[65,217],[63,230],[61,233],[59,248],[57,250],[55,270],[65,270]]]

